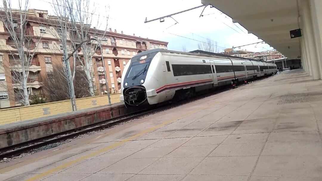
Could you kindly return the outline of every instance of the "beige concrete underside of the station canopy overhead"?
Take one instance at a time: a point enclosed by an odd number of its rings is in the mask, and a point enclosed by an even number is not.
[[[299,29],[297,0],[202,0],[230,16],[289,59],[300,57],[300,38],[290,38]]]

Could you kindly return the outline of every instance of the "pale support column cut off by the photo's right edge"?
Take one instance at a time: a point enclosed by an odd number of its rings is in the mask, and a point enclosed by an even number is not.
[[[318,7],[318,9],[317,9]],[[310,10],[313,25],[313,35],[315,39],[315,49],[319,65],[320,78],[322,79],[322,7],[321,0],[310,0]]]

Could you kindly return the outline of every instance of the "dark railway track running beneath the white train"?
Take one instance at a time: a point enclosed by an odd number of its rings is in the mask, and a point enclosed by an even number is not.
[[[220,88],[216,89],[215,91],[211,91],[211,92],[203,93],[201,95],[197,95],[189,100],[181,101],[181,102],[174,103],[174,104],[159,104],[159,105],[153,106],[151,108],[146,108],[146,109],[143,109],[140,111],[136,111],[136,112],[129,113],[126,115],[122,115],[122,116],[119,116],[116,118],[106,120],[104,122],[90,124],[87,126],[83,126],[83,127],[77,128],[77,129],[70,130],[70,131],[64,131],[64,132],[49,135],[49,136],[46,136],[46,137],[43,137],[40,139],[35,139],[35,140],[28,141],[28,142],[5,147],[5,148],[0,149],[0,159],[18,156],[22,153],[27,153],[27,152],[30,152],[34,149],[38,149],[38,148],[41,148],[41,147],[49,145],[49,144],[59,143],[61,141],[72,139],[72,138],[75,138],[79,135],[86,134],[86,133],[89,133],[92,131],[106,129],[106,128],[118,125],[120,123],[124,123],[124,122],[131,121],[133,119],[137,119],[137,118],[144,116],[144,115],[148,115],[151,113],[157,113],[160,111],[170,109],[172,107],[187,104],[187,103],[190,103],[190,102],[198,100],[198,99],[202,99],[202,98],[205,98],[205,97],[208,97],[211,95],[215,95],[215,94],[227,91],[229,89],[231,89],[231,86],[220,87]]]

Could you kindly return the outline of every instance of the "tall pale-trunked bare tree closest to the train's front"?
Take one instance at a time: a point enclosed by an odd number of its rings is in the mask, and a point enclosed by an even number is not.
[[[71,45],[76,48],[80,42],[90,38],[99,39],[105,36],[107,30],[107,20],[101,21],[98,17],[93,20],[91,12],[95,12],[95,6],[90,0],[65,0],[68,7],[68,17],[72,26],[70,33]],[[106,23],[105,30],[99,30],[101,23]],[[94,24],[95,23],[95,24]],[[91,25],[95,28],[91,28]],[[101,49],[98,41],[89,41],[81,45],[80,53],[75,54],[75,61],[79,62],[83,68],[89,85],[89,92],[94,96],[93,89],[93,56],[98,49]]]

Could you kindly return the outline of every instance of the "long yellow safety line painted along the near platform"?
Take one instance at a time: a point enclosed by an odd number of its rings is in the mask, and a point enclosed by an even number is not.
[[[214,104],[211,104],[211,105],[214,105]],[[36,175],[36,176],[33,176],[33,177],[31,177],[31,178],[27,179],[26,181],[34,181],[34,180],[38,180],[38,179],[40,179],[40,178],[42,178],[42,177],[44,177],[44,176],[47,176],[47,175],[49,175],[49,174],[51,174],[51,173],[53,173],[53,172],[55,172],[55,171],[61,170],[61,169],[65,168],[65,167],[68,167],[68,166],[71,166],[71,165],[76,164],[76,163],[78,163],[78,162],[81,162],[81,161],[83,161],[83,160],[85,160],[85,159],[87,159],[87,158],[97,156],[97,155],[99,155],[100,153],[103,153],[103,152],[106,152],[106,151],[108,151],[108,150],[110,150],[110,149],[116,148],[116,147],[120,146],[121,144],[123,144],[123,143],[125,143],[125,142],[128,142],[128,141],[130,141],[130,140],[133,140],[133,139],[135,139],[135,138],[137,138],[137,137],[139,137],[139,136],[142,136],[142,135],[144,135],[144,134],[146,134],[146,133],[152,132],[152,131],[154,131],[154,130],[156,130],[156,129],[158,129],[158,128],[160,128],[160,127],[162,127],[162,126],[166,125],[166,124],[169,124],[169,123],[171,123],[171,122],[175,122],[175,121],[176,121],[176,120],[178,120],[178,119],[182,119],[182,118],[184,118],[184,117],[186,117],[186,116],[188,116],[188,115],[194,114],[194,113],[196,113],[196,112],[198,112],[198,111],[201,111],[201,110],[203,110],[203,109],[205,109],[205,108],[208,108],[208,107],[209,107],[209,106],[211,106],[211,105],[203,106],[203,107],[201,107],[201,108],[199,108],[199,109],[197,109],[197,110],[194,110],[194,111],[189,111],[188,113],[185,113],[185,114],[180,115],[180,116],[178,116],[178,117],[172,118],[172,119],[170,119],[170,120],[168,120],[168,121],[165,121],[165,122],[160,123],[160,124],[158,124],[158,125],[156,125],[156,126],[153,126],[153,127],[149,128],[149,129],[147,129],[147,130],[141,131],[141,132],[137,133],[136,135],[133,135],[133,136],[131,136],[131,137],[129,137],[129,138],[127,138],[127,139],[125,139],[125,140],[122,140],[122,141],[116,142],[116,143],[114,143],[114,144],[112,144],[112,145],[110,145],[110,146],[108,146],[108,147],[105,147],[105,148],[103,148],[103,149],[97,150],[97,151],[95,151],[95,152],[93,152],[93,153],[90,153],[90,154],[88,154],[88,155],[85,155],[85,156],[83,156],[83,157],[81,157],[81,158],[77,158],[77,159],[75,159],[75,160],[71,160],[71,161],[69,161],[69,162],[67,162],[67,163],[65,163],[65,164],[62,164],[62,165],[58,166],[58,167],[52,168],[52,169],[47,170],[47,171],[45,171],[45,172],[43,172],[43,173],[41,173],[41,174],[38,174],[38,175]]]

